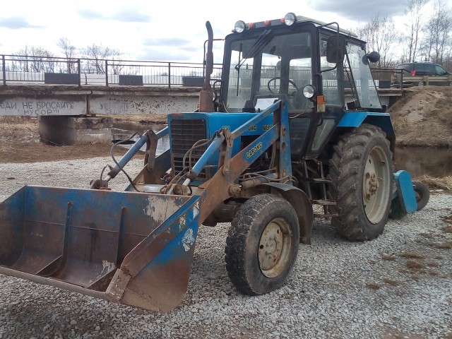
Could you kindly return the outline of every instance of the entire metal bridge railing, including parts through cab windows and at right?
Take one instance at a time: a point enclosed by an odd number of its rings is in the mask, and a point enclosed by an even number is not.
[[[30,57],[1,55],[3,85],[72,84],[72,85],[158,85],[201,87],[202,63],[171,61],[131,61],[112,59],[67,59],[60,57]],[[252,66],[244,68],[241,78],[251,78]],[[272,78],[275,66],[264,70]],[[293,72],[305,72],[295,67]],[[412,85],[451,85],[452,76],[407,76],[400,69],[371,69],[379,88],[404,88]],[[222,64],[214,64],[212,82],[221,80]],[[268,74],[267,74],[268,73]],[[265,78],[265,76],[264,76]],[[238,79],[237,79],[238,81]],[[234,79],[232,79],[234,82]],[[265,84],[264,84],[265,85]]]

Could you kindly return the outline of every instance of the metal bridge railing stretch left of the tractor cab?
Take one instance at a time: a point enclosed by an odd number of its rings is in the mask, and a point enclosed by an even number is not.
[[[202,86],[203,64],[167,61],[67,59],[1,54],[1,83]],[[214,64],[212,81],[221,79]]]

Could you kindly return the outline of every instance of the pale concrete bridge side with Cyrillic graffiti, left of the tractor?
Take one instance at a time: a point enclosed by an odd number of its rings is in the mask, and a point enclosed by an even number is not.
[[[73,85],[1,86],[0,116],[48,117],[85,114],[193,112],[199,88]]]

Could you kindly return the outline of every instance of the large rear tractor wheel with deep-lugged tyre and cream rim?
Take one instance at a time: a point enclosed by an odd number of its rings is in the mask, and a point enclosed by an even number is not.
[[[391,210],[393,162],[379,127],[363,124],[340,137],[330,160],[331,219],[338,234],[364,241],[383,233]]]

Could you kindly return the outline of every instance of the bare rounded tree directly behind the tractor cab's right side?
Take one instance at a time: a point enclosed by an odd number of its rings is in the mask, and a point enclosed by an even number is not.
[[[398,32],[393,20],[388,16],[377,14],[362,28],[358,28],[358,35],[367,41],[367,50],[376,51],[380,54],[379,68],[388,69],[393,67],[398,39]]]

